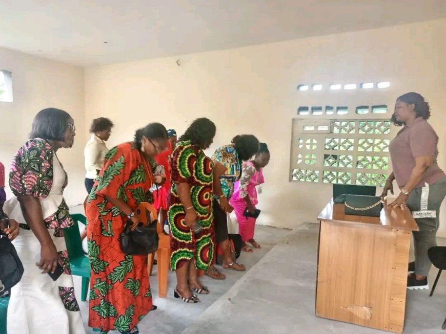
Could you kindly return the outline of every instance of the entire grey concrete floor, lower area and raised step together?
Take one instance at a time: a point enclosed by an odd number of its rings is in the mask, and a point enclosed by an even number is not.
[[[256,227],[256,239],[263,249],[243,253],[240,258],[249,270],[225,271],[228,278],[224,281],[203,278],[212,293],[202,296],[199,304],[185,304],[173,298],[173,274],[169,277],[168,298],[157,298],[156,276],[152,276],[154,303],[159,308],[141,321],[141,334],[383,333],[315,317],[318,227],[304,224],[292,232]],[[439,239],[439,244],[446,245],[446,240]],[[431,285],[436,273],[432,269]],[[441,330],[446,317],[445,297],[444,277],[431,298],[428,291],[408,291],[404,333],[446,334]],[[88,303],[81,304],[86,322]],[[92,333],[91,329],[87,332]]]

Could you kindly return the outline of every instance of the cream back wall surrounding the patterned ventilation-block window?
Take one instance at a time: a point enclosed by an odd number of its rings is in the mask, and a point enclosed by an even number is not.
[[[331,197],[329,185],[289,182],[291,123],[299,105],[388,103],[393,108],[400,94],[419,92],[431,103],[431,123],[440,136],[439,164],[446,169],[444,31],[445,19],[88,68],[86,125],[95,117],[111,118],[114,145],[131,140],[135,128],[149,122],[181,133],[191,120],[205,116],[217,125],[208,153],[238,133],[254,133],[272,153],[260,222],[294,228],[315,221]],[[381,93],[296,91],[299,83],[364,81],[392,86]]]

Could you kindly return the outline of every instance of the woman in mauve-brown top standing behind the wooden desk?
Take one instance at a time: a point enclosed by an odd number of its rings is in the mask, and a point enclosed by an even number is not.
[[[390,207],[412,212],[419,232],[413,232],[415,262],[409,263],[408,288],[429,289],[431,261],[428,250],[437,246],[440,206],[446,195],[446,175],[438,167],[438,136],[427,122],[431,116],[429,103],[418,93],[400,96],[391,121],[404,126],[390,143],[393,172],[382,196],[395,180],[400,194]]]

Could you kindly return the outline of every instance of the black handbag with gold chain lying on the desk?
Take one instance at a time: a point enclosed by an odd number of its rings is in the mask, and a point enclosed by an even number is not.
[[[346,214],[355,216],[379,217],[383,202],[379,196],[342,194],[333,200],[334,204],[343,203]]]

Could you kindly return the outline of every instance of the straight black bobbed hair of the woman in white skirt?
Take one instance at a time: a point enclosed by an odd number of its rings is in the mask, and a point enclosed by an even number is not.
[[[40,110],[32,121],[29,138],[64,141],[70,118],[70,114],[64,110],[56,108]]]

